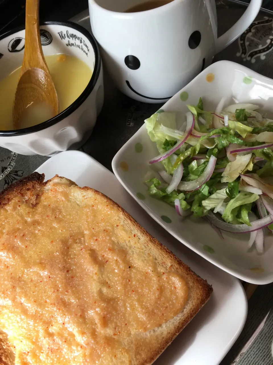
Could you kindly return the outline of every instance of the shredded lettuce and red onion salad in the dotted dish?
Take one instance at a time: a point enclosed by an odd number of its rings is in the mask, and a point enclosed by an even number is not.
[[[158,176],[148,194],[177,214],[206,217],[217,229],[250,233],[264,252],[264,231],[273,231],[273,120],[258,105],[241,103],[205,111],[200,98],[186,116],[158,111],[145,120],[159,155]]]

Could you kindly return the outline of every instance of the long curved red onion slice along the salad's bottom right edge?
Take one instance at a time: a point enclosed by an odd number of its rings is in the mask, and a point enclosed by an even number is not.
[[[215,227],[220,228],[223,231],[231,232],[231,233],[248,233],[260,230],[261,228],[264,228],[266,226],[269,226],[269,224],[273,223],[273,216],[268,215],[265,218],[258,219],[254,222],[252,222],[251,226],[247,226],[246,224],[231,224],[226,223],[223,220],[218,219],[213,212],[209,211],[207,218],[210,220],[212,224],[214,224]]]

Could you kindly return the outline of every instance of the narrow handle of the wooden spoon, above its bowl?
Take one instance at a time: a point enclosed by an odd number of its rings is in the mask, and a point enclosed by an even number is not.
[[[40,0],[26,0],[25,3],[25,49],[21,74],[30,68],[49,72],[41,46],[39,23]]]

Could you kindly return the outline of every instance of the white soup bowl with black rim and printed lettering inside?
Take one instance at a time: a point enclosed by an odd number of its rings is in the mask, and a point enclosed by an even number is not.
[[[91,68],[92,77],[78,99],[54,118],[28,128],[0,130],[0,146],[23,155],[50,156],[79,148],[90,136],[103,105],[103,73],[98,45],[85,28],[72,22],[45,22],[40,33],[45,56],[75,56]],[[0,80],[21,66],[24,37],[24,27],[0,36]]]

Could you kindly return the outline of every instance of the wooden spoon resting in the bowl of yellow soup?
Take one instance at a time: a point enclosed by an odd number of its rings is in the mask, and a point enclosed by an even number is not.
[[[26,0],[25,5],[24,58],[13,103],[15,129],[20,128],[20,119],[32,105],[46,104],[52,117],[58,114],[58,96],[41,47],[39,2]]]

